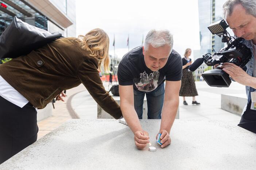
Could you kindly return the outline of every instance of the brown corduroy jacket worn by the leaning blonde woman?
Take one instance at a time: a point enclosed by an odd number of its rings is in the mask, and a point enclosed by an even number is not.
[[[73,37],[57,39],[0,65],[0,75],[34,107],[43,109],[62,90],[84,84],[94,100],[114,118],[120,106],[104,89],[98,61]]]

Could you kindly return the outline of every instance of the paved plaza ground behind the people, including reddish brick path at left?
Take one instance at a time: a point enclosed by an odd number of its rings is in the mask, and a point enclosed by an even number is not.
[[[110,88],[108,82],[104,82],[104,86],[106,90]],[[221,109],[221,94],[237,94],[246,98],[243,85],[232,82],[229,88],[217,88],[208,86],[205,81],[198,81],[196,87],[199,95],[196,96],[196,100],[201,105],[191,105],[192,97],[186,97],[189,105],[185,106],[180,97],[179,118],[181,120],[228,121],[234,125],[239,123],[240,116]],[[67,90],[66,94],[65,102],[57,101],[54,104],[53,115],[38,122],[38,139],[72,118],[97,119],[97,103],[82,84]]]

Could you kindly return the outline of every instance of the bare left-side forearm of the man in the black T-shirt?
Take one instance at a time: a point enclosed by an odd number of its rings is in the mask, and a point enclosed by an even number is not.
[[[137,113],[134,109],[133,105],[129,104],[120,104],[123,116],[129,127],[131,128],[132,132],[135,133],[136,131],[142,130],[139,118]]]

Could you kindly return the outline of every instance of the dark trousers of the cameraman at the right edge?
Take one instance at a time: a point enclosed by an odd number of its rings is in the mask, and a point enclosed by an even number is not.
[[[251,104],[252,101],[248,103],[247,108],[242,115],[238,126],[253,133],[256,133],[256,110],[251,110]]]

